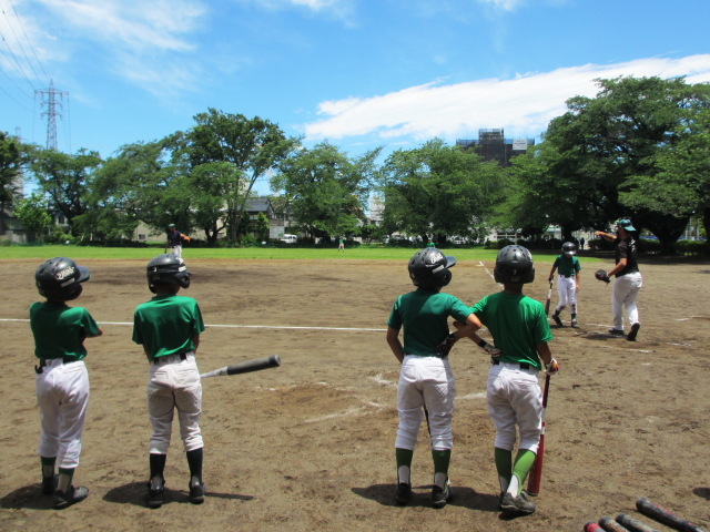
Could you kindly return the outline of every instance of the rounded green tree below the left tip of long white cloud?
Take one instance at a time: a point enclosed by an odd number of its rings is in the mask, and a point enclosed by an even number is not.
[[[364,219],[379,151],[351,158],[327,142],[301,150],[280,163],[272,190],[284,192],[295,222],[310,236],[329,242],[353,235]]]

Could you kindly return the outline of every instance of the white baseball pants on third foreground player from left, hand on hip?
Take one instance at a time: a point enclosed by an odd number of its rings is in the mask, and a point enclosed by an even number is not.
[[[397,385],[397,449],[414,450],[426,406],[429,412],[432,449],[445,451],[454,447],[452,418],[456,385],[448,358],[407,355],[402,362]]]

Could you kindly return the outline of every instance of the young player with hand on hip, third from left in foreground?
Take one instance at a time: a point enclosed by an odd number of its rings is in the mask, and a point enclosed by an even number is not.
[[[471,335],[480,327],[480,321],[466,305],[440,293],[452,280],[449,268],[455,264],[454,257],[444,256],[435,247],[417,252],[408,266],[409,278],[417,289],[397,298],[387,320],[387,344],[402,364],[397,385],[399,427],[395,441],[395,501],[400,505],[412,499],[412,457],[425,412],[434,459],[432,503],[434,508],[444,508],[453,497],[448,466],[454,444],[452,417],[456,386],[447,357],[458,338]],[[449,316],[466,324],[450,335]],[[402,327],[404,346],[399,341]]]

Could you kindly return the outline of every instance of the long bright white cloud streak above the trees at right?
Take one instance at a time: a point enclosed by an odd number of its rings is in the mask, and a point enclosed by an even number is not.
[[[453,85],[438,81],[372,98],[347,98],[318,105],[327,117],[304,124],[308,141],[375,135],[422,141],[453,140],[479,127],[508,127],[538,135],[566,112],[565,101],[594,96],[597,78],[687,75],[689,83],[710,81],[710,54],[682,59],[650,58],[616,64],[586,64],[511,80],[478,80]]]

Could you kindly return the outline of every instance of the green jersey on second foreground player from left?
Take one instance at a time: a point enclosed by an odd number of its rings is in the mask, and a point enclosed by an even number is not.
[[[192,297],[155,296],[133,314],[133,341],[146,348],[150,360],[194,351],[192,337],[203,330],[202,314]]]

